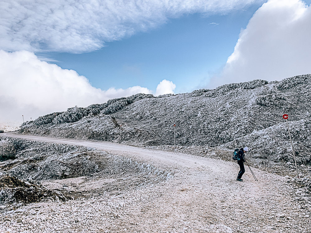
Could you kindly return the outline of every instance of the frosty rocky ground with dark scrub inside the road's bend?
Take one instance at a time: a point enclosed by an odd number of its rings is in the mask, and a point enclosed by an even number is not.
[[[92,186],[106,191],[135,189],[160,183],[169,171],[161,171],[130,158],[90,147],[56,144],[0,136],[0,213],[6,206],[21,206],[47,200],[67,201],[85,195],[81,179],[106,180]],[[76,179],[77,178],[77,179]],[[73,185],[47,188],[57,180],[75,180]]]

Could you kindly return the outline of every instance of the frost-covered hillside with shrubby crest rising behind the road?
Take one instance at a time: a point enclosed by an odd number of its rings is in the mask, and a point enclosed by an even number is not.
[[[164,95],[138,94],[87,108],[70,108],[26,122],[19,133],[96,139],[132,145],[240,147],[254,158],[291,160],[285,120],[299,163],[310,162],[311,75],[268,83],[253,80],[213,90]],[[120,138],[121,135],[121,138]]]

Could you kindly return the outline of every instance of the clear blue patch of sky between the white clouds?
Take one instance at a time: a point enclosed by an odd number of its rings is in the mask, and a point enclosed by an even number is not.
[[[234,50],[241,28],[262,4],[225,15],[187,14],[156,29],[105,43],[91,53],[37,53],[58,66],[86,76],[97,88],[143,86],[155,89],[163,79],[176,93],[202,88]],[[217,23],[211,24],[211,23]]]

